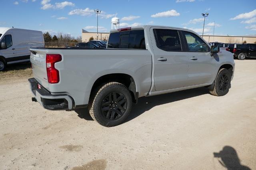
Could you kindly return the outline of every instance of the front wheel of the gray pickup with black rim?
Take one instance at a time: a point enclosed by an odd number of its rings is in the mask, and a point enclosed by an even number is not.
[[[226,68],[221,68],[214,81],[214,87],[209,89],[213,96],[224,96],[228,93],[231,82],[230,72]]]

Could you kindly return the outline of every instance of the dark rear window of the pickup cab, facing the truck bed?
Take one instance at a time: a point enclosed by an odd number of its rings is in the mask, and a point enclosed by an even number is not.
[[[108,48],[146,49],[144,30],[111,33],[108,39]]]

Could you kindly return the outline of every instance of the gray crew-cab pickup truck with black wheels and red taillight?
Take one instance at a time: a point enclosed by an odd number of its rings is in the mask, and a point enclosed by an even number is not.
[[[191,30],[154,25],[111,30],[106,49],[30,51],[32,101],[50,110],[88,107],[106,127],[122,123],[142,96],[198,87],[223,96],[235,65],[232,53]]]

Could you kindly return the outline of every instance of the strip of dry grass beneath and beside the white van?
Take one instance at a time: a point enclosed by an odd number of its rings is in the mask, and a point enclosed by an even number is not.
[[[6,69],[0,72],[0,83],[10,79],[23,79],[32,77],[32,68],[30,63],[10,64]]]

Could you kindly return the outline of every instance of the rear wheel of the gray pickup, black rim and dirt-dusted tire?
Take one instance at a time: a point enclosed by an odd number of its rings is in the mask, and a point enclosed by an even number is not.
[[[118,82],[109,82],[91,96],[88,109],[95,121],[105,127],[121,124],[132,108],[130,91]]]

